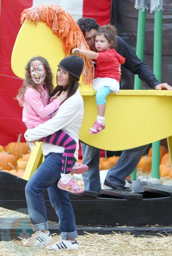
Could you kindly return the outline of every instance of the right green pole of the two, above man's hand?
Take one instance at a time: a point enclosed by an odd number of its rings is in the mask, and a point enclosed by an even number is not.
[[[162,10],[155,10],[154,18],[154,64],[153,70],[156,78],[161,82],[162,62]],[[152,178],[160,178],[160,140],[152,143]]]

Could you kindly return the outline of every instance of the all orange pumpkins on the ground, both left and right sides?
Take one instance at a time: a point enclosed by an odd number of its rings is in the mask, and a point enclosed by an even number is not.
[[[9,172],[23,178],[25,168],[30,156],[30,148],[27,143],[20,142],[22,134],[19,134],[17,142],[10,142],[6,148],[0,145],[0,171]],[[109,170],[115,166],[119,156],[110,156],[109,158],[100,157],[99,168]],[[79,159],[78,162],[82,163]],[[148,155],[142,156],[137,170],[142,172],[151,172],[152,169],[152,148],[149,149]],[[172,178],[170,166],[170,156],[166,146],[160,146],[160,177]]]

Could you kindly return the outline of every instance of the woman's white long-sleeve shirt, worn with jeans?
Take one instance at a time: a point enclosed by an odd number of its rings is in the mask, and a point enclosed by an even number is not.
[[[61,104],[59,109],[53,113],[50,120],[33,129],[28,129],[24,134],[25,139],[27,141],[39,140],[62,129],[76,141],[77,147],[74,158],[78,160],[79,130],[82,124],[83,115],[84,102],[79,90],[77,90],[73,96]],[[44,155],[47,155],[50,152],[64,152],[63,147],[55,146],[49,143],[43,143],[42,150]]]

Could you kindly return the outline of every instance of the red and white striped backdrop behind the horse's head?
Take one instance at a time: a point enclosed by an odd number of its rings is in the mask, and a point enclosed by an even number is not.
[[[22,108],[13,99],[22,86],[22,80],[12,72],[11,54],[21,27],[20,14],[25,8],[39,3],[39,0],[0,1],[0,144],[3,146],[16,141],[18,134],[26,130],[22,122]],[[41,3],[50,4],[50,1],[42,0]],[[111,0],[51,0],[51,4],[64,8],[74,20],[92,17],[100,25],[110,22]]]

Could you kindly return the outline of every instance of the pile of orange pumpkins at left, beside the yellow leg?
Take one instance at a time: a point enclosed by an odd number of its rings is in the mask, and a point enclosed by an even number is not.
[[[6,148],[0,145],[0,171],[23,178],[30,156],[30,148],[27,143],[20,142],[21,135],[17,142],[10,142]]]

